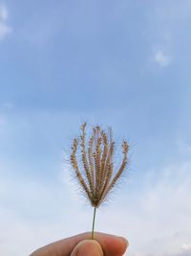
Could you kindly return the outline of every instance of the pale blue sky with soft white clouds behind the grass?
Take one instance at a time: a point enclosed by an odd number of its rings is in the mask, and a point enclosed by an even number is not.
[[[130,143],[96,230],[191,255],[190,23],[189,0],[0,0],[2,255],[91,230],[68,161],[83,122]]]

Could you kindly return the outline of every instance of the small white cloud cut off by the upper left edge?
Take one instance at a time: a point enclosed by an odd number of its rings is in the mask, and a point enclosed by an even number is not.
[[[11,26],[8,24],[8,9],[5,5],[0,5],[0,40],[11,33]]]

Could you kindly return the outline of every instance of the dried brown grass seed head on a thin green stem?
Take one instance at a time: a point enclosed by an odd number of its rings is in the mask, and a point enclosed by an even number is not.
[[[81,126],[80,136],[73,141],[70,161],[74,175],[85,197],[94,207],[92,239],[94,239],[96,209],[113,190],[127,166],[128,143],[122,142],[123,157],[116,171],[114,170],[115,151],[111,128],[105,132],[96,126],[87,139],[86,123],[84,123]]]

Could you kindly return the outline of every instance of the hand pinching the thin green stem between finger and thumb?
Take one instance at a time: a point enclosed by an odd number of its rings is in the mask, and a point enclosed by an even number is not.
[[[120,256],[127,246],[127,240],[122,237],[96,232],[91,240],[91,233],[83,233],[48,244],[30,256]]]

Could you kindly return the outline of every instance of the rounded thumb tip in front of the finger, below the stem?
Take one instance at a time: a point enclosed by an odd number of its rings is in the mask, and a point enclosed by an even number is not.
[[[103,256],[103,251],[96,240],[83,240],[76,244],[71,256]]]

